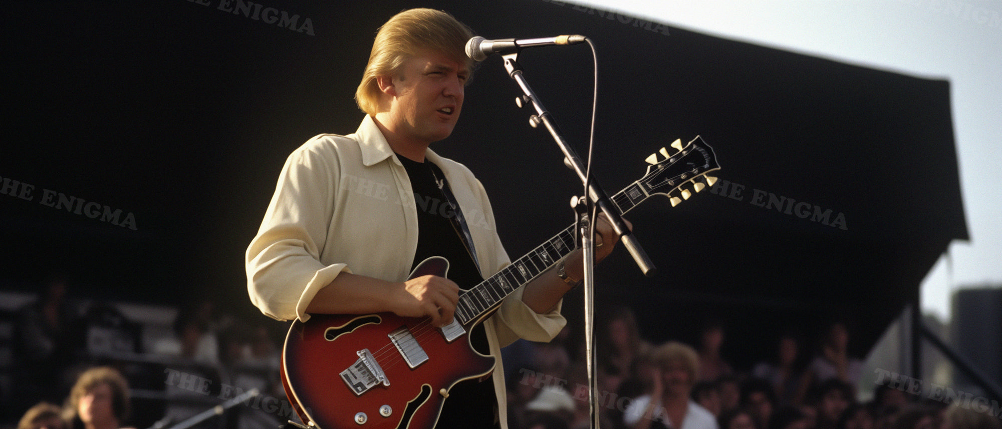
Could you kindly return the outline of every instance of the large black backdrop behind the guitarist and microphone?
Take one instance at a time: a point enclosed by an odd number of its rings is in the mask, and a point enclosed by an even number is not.
[[[375,30],[416,6],[449,10],[488,38],[592,38],[594,169],[610,191],[676,137],[714,147],[725,192],[674,208],[658,198],[629,216],[660,274],[643,278],[625,253],[600,267],[600,306],[632,306],[651,340],[691,341],[699,321],[719,317],[746,365],[776,328],[810,331],[837,314],[858,322],[863,353],[947,244],[967,238],[945,81],[560,2],[4,1],[16,19],[2,30],[0,176],[32,188],[0,195],[3,288],[33,290],[63,271],[78,295],[208,298],[257,315],[242,253],[286,155],[317,133],[355,130],[352,96]],[[583,153],[587,48],[527,50],[520,61]],[[513,257],[568,225],[567,200],[580,192],[516,95],[500,59],[484,61],[456,132],[433,146],[478,173]],[[96,205],[57,208],[47,193]],[[790,205],[766,205],[770,195]],[[87,214],[98,208],[120,209],[124,226]],[[829,222],[814,210],[831,210]],[[579,303],[577,292],[566,309],[575,327]]]

